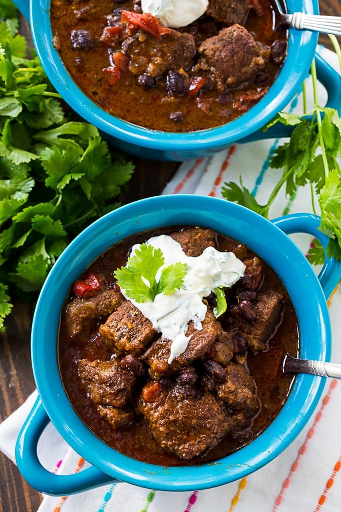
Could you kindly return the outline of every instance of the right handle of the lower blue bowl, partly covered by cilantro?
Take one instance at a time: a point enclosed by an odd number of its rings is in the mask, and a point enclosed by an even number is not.
[[[321,283],[326,298],[329,298],[341,279],[341,261],[327,257],[326,248],[329,238],[319,229],[320,217],[312,214],[290,214],[274,219],[271,222],[286,234],[309,233],[322,243],[325,249],[325,262],[317,278]]]

